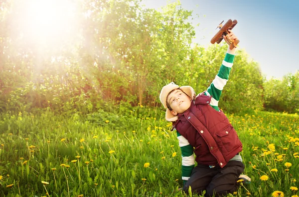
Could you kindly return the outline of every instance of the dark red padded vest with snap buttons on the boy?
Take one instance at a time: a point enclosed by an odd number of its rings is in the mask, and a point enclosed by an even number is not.
[[[242,151],[242,143],[224,113],[213,109],[210,101],[211,96],[197,95],[190,107],[178,114],[173,127],[195,148],[198,164],[223,168]]]

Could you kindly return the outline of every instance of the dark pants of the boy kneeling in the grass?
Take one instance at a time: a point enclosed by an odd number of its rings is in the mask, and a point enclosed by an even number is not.
[[[240,174],[244,171],[244,164],[240,161],[230,161],[223,168],[216,166],[210,168],[198,164],[193,170],[191,177],[185,183],[183,190],[188,194],[189,186],[192,194],[202,195],[205,190],[206,197],[222,197],[236,192],[240,186],[237,183]]]

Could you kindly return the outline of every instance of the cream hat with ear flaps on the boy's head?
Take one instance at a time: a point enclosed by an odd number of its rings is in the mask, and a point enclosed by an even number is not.
[[[161,103],[163,104],[163,107],[166,109],[165,118],[169,122],[176,121],[177,116],[172,115],[171,111],[167,108],[166,98],[167,98],[169,92],[171,92],[171,90],[174,90],[174,89],[177,89],[177,88],[179,88],[181,91],[186,93],[190,98],[192,98],[192,99],[195,98],[195,91],[191,86],[181,86],[181,87],[179,87],[174,82],[171,82],[171,83],[165,85],[162,88],[161,92],[160,92],[160,97],[159,98],[160,98]]]

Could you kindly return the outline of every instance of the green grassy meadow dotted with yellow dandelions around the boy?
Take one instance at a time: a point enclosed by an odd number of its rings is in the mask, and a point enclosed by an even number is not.
[[[119,114],[1,115],[0,196],[186,196],[178,191],[176,132],[164,114],[142,107]],[[228,117],[243,142],[244,174],[252,178],[234,196],[297,197],[299,116]]]

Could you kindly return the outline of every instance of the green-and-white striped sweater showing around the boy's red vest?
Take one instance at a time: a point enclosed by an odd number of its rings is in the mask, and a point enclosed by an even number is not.
[[[208,87],[205,95],[212,96],[210,106],[217,111],[220,111],[218,108],[218,102],[221,96],[221,92],[226,82],[228,81],[228,76],[230,70],[233,66],[235,55],[226,53],[222,65],[219,69],[218,74],[215,79],[212,81],[211,85]],[[189,144],[188,140],[180,135],[177,131],[177,139],[179,140],[179,147],[182,153],[182,180],[185,184],[189,180],[192,170],[195,165],[195,160],[193,156],[193,147]],[[241,161],[242,158],[240,155],[236,155],[231,160]]]

